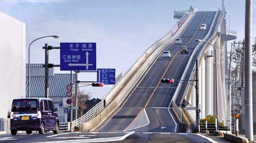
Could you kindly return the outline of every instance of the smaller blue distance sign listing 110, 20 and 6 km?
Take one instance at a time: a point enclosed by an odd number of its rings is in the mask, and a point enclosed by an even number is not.
[[[116,83],[116,69],[97,69],[97,82],[104,84]]]

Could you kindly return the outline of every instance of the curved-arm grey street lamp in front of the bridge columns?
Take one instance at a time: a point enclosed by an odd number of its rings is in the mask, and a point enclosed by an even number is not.
[[[196,40],[198,43],[201,41],[207,42],[209,44],[211,44],[214,48],[214,53],[215,53],[215,76],[216,76],[216,115],[219,116],[219,111],[218,111],[218,79],[217,79],[217,49],[216,47],[209,41],[205,41],[205,40],[201,40],[201,39],[197,39]],[[217,124],[219,124],[219,119],[217,118]],[[219,125],[217,125],[217,130],[219,130]]]

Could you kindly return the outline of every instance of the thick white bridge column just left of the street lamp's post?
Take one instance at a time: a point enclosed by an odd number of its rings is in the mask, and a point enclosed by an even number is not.
[[[212,50],[208,47],[205,56],[205,116],[212,114]]]

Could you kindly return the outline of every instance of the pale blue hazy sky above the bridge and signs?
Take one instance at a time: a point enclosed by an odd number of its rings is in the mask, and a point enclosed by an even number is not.
[[[255,3],[253,0],[254,27]],[[30,63],[44,63],[44,43],[60,46],[60,42],[96,42],[97,68],[115,68],[117,76],[124,74],[151,44],[175,26],[178,19],[173,18],[174,10],[187,10],[190,5],[199,11],[217,11],[221,9],[221,0],[0,0],[0,11],[26,23],[27,47],[38,37],[60,35],[59,39],[45,38],[33,43]],[[237,31],[237,40],[242,40],[245,1],[225,0],[224,5],[230,15],[230,29]],[[49,63],[60,64],[59,50],[49,51]],[[58,67],[54,71],[70,73]],[[96,77],[96,73],[78,74],[78,80],[83,81]],[[80,90],[102,99],[111,87]]]

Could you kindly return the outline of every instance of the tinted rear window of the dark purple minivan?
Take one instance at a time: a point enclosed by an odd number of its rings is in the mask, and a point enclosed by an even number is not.
[[[21,99],[12,102],[12,112],[39,111],[38,100]]]

